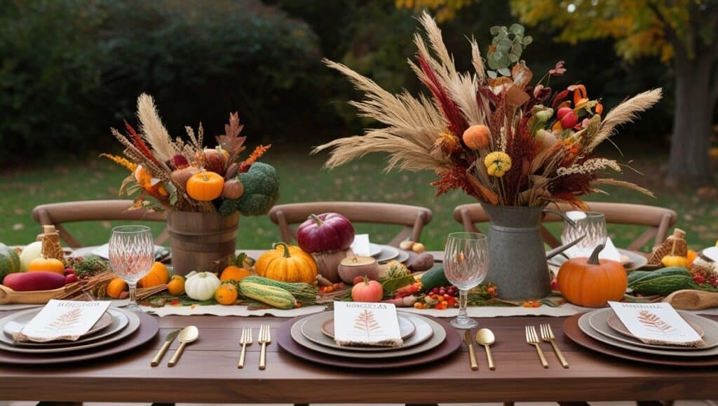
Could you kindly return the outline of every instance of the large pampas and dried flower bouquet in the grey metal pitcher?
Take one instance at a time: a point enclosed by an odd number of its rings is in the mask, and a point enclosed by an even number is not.
[[[615,160],[596,157],[595,148],[661,98],[661,89],[630,98],[603,115],[583,85],[561,91],[549,80],[566,72],[559,62],[531,85],[533,73],[521,53],[531,43],[519,24],[492,27],[485,59],[470,41],[475,73],[459,73],[434,19],[421,16],[428,46],[414,36],[416,63],[409,65],[431,97],[392,94],[345,65],[325,63],[348,76],[365,93],[351,104],[383,128],[363,136],[335,139],[312,153],[332,149],[327,167],[370,152],[388,152],[388,167],[433,170],[437,195],[461,188],[492,205],[542,206],[567,202],[584,208],[580,195],[598,185],[618,185],[651,195],[633,183],[604,177],[621,171]],[[433,51],[433,55],[429,52]]]

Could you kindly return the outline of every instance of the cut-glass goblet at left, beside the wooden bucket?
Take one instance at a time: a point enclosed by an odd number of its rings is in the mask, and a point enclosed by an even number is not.
[[[154,262],[154,241],[147,226],[118,226],[110,237],[110,265],[113,272],[130,288],[128,310],[141,311],[135,297],[137,281],[141,280]]]

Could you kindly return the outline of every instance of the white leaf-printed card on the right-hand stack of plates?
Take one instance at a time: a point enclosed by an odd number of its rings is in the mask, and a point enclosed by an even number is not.
[[[608,303],[635,338],[649,344],[705,346],[670,303]]]

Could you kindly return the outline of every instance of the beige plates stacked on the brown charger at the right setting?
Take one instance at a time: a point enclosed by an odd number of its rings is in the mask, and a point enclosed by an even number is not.
[[[615,333],[613,329],[608,326],[606,320],[610,313],[607,313],[606,310],[609,310],[610,312],[613,311],[610,308],[599,309],[582,315],[579,318],[579,328],[581,329],[581,331],[583,331],[584,333],[586,333],[587,336],[597,341],[601,341],[602,343],[606,343],[610,346],[615,346],[620,349],[625,349],[627,351],[681,357],[718,356],[718,347],[715,344],[709,347],[689,348],[654,346],[652,344],[640,343],[635,340],[629,341],[628,338],[625,338],[624,336]],[[601,314],[601,317],[596,316],[592,320],[592,323],[595,327],[592,326],[591,322],[589,322],[589,319],[592,317],[592,315]],[[686,318],[686,313],[681,314],[681,316]],[[694,315],[691,316],[695,318],[691,321],[699,320],[698,323],[700,323],[701,328],[703,328],[703,330],[706,332],[706,335],[704,336],[704,340],[706,341],[706,343],[715,343],[716,341],[718,341],[718,323],[714,322],[713,320],[708,320],[707,318],[701,318]],[[619,337],[621,339],[619,340],[616,337]],[[692,351],[684,351],[686,349],[691,349]]]

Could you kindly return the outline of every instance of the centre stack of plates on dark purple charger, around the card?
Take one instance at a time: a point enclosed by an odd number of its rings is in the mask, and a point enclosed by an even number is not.
[[[436,361],[452,354],[461,337],[444,322],[414,313],[398,313],[404,345],[338,346],[334,341],[334,313],[324,312],[289,320],[279,328],[277,341],[286,351],[309,361],[351,368],[391,368]]]

